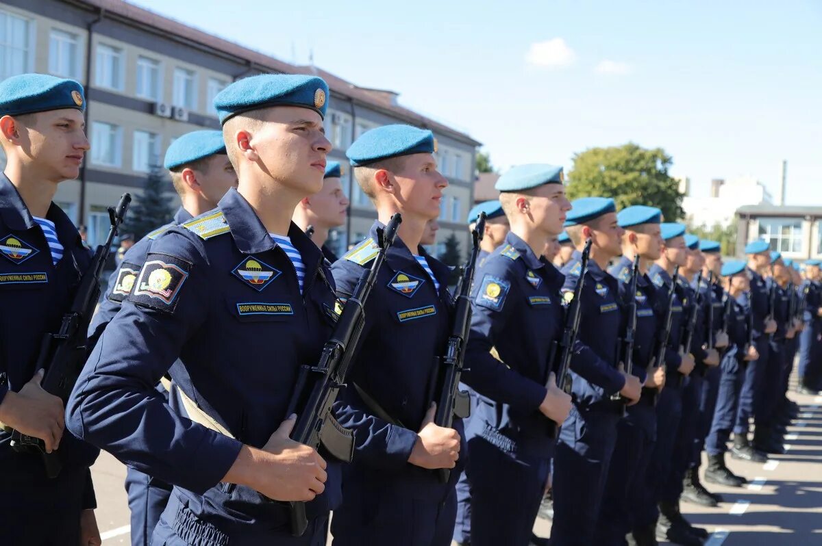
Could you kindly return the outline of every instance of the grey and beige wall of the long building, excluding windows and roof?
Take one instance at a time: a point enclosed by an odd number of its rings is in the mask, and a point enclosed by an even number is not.
[[[135,169],[135,131],[145,131],[157,135],[155,160],[161,163],[165,149],[173,139],[188,131],[202,128],[219,128],[216,113],[210,104],[210,80],[227,85],[242,76],[257,73],[249,70],[247,63],[231,57],[227,53],[208,48],[202,44],[189,44],[183,39],[159,34],[142,23],[124,22],[113,18],[103,18],[93,27],[91,34],[90,85],[86,81],[86,48],[89,33],[87,25],[95,21],[97,14],[76,4],[60,0],[3,0],[0,12],[11,13],[29,21],[30,44],[28,55],[21,71],[49,72],[51,52],[50,40],[53,30],[72,34],[76,37],[76,62],[70,67],[72,73],[58,76],[80,80],[86,87],[88,99],[87,133],[92,143],[97,142],[102,127],[106,123],[119,127],[118,162],[113,165],[95,161],[95,151],[90,152],[85,163],[85,203],[81,210],[81,183],[63,182],[55,201],[64,206],[76,223],[87,223],[90,241],[99,242],[104,236],[98,235],[92,225],[106,206],[115,204],[123,191],[139,194],[145,183],[147,172]],[[47,14],[48,16],[44,15]],[[122,52],[122,86],[110,88],[100,85],[96,77],[98,70],[97,53],[100,46],[117,48]],[[158,100],[146,99],[137,92],[138,58],[145,57],[159,62]],[[188,121],[181,122],[155,115],[155,103],[174,103],[175,70],[192,71],[196,75],[196,94],[192,108],[187,108]],[[9,76],[7,74],[5,76]],[[212,93],[210,93],[210,90]],[[382,108],[371,108],[353,101],[344,94],[332,90],[329,98],[329,115],[326,116],[326,132],[339,135],[330,159],[347,163],[344,149],[363,131],[390,123],[407,122],[401,116],[393,116]],[[333,119],[332,119],[333,117]],[[449,134],[436,134],[439,144],[437,159],[450,181],[446,189],[447,210],[441,218],[439,241],[445,241],[450,233],[460,238],[460,246],[467,254],[467,230],[465,218],[473,197],[473,172],[475,149],[472,140],[460,140]],[[99,150],[99,146],[97,147]],[[139,153],[139,152],[138,152]],[[455,167],[455,157],[459,157],[459,167]],[[4,163],[4,160],[3,162]],[[349,171],[349,169],[347,169]],[[339,249],[353,244],[358,234],[367,233],[373,218],[373,206],[358,196],[356,183],[350,172],[344,177],[344,187],[352,200],[349,225],[339,230]],[[176,206],[177,195],[173,193],[169,181],[169,202]],[[456,200],[456,201],[455,201]],[[455,207],[456,210],[452,210]],[[456,212],[456,213],[454,213]],[[349,235],[350,234],[350,235]],[[96,241],[95,241],[96,239]]]

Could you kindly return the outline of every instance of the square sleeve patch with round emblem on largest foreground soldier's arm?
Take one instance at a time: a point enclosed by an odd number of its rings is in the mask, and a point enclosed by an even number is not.
[[[192,264],[168,254],[151,253],[137,276],[128,301],[173,314]]]

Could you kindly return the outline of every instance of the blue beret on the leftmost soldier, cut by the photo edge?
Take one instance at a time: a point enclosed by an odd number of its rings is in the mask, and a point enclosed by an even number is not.
[[[0,82],[0,116],[21,116],[48,110],[85,109],[83,86],[45,74],[21,74]]]

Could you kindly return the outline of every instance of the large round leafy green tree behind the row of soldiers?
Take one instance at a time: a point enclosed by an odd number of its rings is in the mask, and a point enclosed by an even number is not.
[[[628,143],[591,148],[575,154],[568,177],[568,197],[611,197],[617,209],[647,204],[662,209],[667,222],[684,216],[677,181],[668,174],[672,158],[661,148]]]

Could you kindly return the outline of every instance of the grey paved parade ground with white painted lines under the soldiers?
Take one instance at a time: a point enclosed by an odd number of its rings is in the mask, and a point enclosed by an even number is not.
[[[708,546],[822,544],[822,397],[795,392],[790,397],[801,405],[802,411],[788,428],[789,447],[784,455],[774,455],[764,465],[728,456],[728,467],[748,478],[750,484],[745,489],[706,484],[710,491],[722,493],[725,498],[715,508],[682,502],[682,512],[694,525],[713,532],[705,543]],[[91,471],[104,546],[130,544],[128,507],[122,486],[125,467],[104,452]],[[538,535],[550,535],[550,522],[538,519],[534,530]]]

